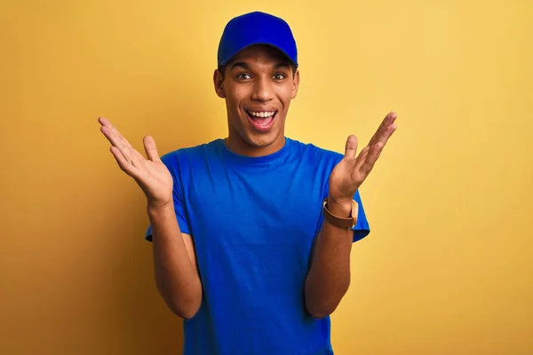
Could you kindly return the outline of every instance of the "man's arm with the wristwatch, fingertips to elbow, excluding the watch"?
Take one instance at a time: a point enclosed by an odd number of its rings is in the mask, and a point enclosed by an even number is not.
[[[387,114],[374,136],[355,157],[357,138],[348,137],[346,153],[330,174],[328,209],[338,217],[349,217],[354,193],[370,174],[374,163],[396,130],[396,114]],[[350,285],[350,252],[354,232],[324,220],[314,241],[311,267],[306,277],[306,309],[314,318],[330,315],[337,308]]]

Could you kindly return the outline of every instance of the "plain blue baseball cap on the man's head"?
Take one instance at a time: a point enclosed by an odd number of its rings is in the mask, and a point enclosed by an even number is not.
[[[227,22],[219,43],[219,67],[253,44],[267,44],[287,56],[298,67],[298,51],[289,24],[265,12],[250,12]]]

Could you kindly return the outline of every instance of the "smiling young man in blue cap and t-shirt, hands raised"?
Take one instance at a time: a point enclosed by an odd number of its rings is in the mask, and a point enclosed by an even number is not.
[[[228,22],[215,91],[228,136],[145,159],[104,118],[120,168],[147,196],[155,280],[183,317],[188,354],[332,354],[330,318],[350,282],[353,241],[369,232],[359,186],[396,129],[344,156],[284,135],[298,92],[287,23],[252,12]]]

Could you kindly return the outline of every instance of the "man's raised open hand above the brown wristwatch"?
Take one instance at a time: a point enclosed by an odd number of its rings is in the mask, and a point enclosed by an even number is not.
[[[378,160],[388,138],[396,130],[396,114],[391,112],[386,115],[378,130],[370,139],[358,156],[357,137],[350,136],[346,140],[346,153],[330,174],[329,204],[344,204],[349,206],[362,182],[369,176],[370,171]]]

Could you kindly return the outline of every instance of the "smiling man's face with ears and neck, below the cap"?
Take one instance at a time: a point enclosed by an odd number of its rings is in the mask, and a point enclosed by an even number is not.
[[[260,156],[285,143],[285,117],[298,92],[299,73],[281,51],[254,45],[237,53],[224,75],[215,71],[215,90],[226,99],[229,136],[235,153]]]

